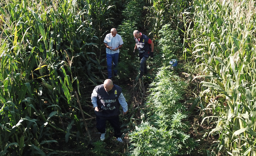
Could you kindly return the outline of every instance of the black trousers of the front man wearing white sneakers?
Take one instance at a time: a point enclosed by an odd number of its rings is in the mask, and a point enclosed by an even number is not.
[[[119,123],[119,116],[115,116],[113,118],[106,118],[101,116],[96,116],[96,128],[100,133],[105,133],[106,131],[106,121],[109,121],[110,125],[114,128],[115,137],[121,137],[121,128]]]

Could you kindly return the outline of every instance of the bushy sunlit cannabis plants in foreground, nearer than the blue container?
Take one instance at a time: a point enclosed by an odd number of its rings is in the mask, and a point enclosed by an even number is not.
[[[179,111],[184,107],[179,103],[181,94],[176,91],[184,90],[186,84],[172,80],[168,72],[169,68],[161,69],[150,84],[151,94],[146,103],[149,118],[130,134],[132,155],[190,154],[195,148],[196,144],[186,134],[188,126],[183,120],[187,116]]]

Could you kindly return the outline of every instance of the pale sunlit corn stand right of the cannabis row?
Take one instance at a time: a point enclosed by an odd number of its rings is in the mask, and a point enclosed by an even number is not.
[[[194,8],[184,52],[193,54],[203,70],[198,77],[207,80],[201,82],[200,103],[213,115],[204,111],[204,120],[216,119],[210,132],[219,134],[215,152],[255,155],[254,1],[196,0]]]

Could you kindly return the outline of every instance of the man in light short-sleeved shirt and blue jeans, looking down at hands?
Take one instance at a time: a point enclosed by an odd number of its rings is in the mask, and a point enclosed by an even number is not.
[[[114,76],[117,76],[117,63],[119,49],[123,46],[123,40],[120,35],[117,34],[115,28],[111,29],[111,33],[107,34],[104,39],[104,45],[106,46],[107,54],[107,77],[112,79],[112,60],[114,64]]]

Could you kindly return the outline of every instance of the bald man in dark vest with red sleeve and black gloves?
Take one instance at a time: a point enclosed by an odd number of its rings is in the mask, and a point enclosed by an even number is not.
[[[135,50],[138,48],[139,50],[139,58],[140,58],[140,76],[141,78],[143,74],[147,73],[147,65],[146,61],[149,56],[152,58],[154,56],[154,44],[149,37],[140,33],[138,30],[134,30],[133,36],[135,39],[135,47],[134,47],[134,54]]]

